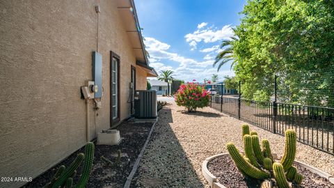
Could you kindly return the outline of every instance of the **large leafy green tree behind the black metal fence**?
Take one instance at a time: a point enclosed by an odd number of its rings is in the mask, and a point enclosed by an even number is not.
[[[234,29],[239,40],[230,40],[243,96],[269,100],[277,75],[282,99],[323,104],[325,98],[333,106],[334,76],[324,73],[334,68],[333,7],[331,0],[248,0]],[[317,83],[310,87],[312,78]]]

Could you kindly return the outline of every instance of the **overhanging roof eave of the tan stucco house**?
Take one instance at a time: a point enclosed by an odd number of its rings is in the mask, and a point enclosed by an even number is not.
[[[134,50],[134,55],[136,56],[136,64],[141,67],[143,67],[142,65],[146,65],[146,67],[143,68],[145,72],[148,73],[148,77],[157,77],[157,72],[154,68],[149,66],[148,56],[145,52],[143,36],[141,35],[141,26],[139,25],[134,0],[115,1],[118,6],[118,13],[123,21],[123,26],[127,32],[127,36],[132,43],[132,49]]]

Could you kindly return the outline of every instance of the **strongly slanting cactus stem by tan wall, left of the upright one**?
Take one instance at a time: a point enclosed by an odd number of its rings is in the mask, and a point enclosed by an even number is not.
[[[74,159],[74,162],[66,169],[61,176],[54,182],[54,185],[52,185],[52,188],[58,188],[60,186],[63,186],[65,181],[70,177],[70,175],[73,174],[73,172],[78,168],[78,166],[81,164],[81,162],[84,160],[84,153],[79,153],[77,155],[77,158]]]

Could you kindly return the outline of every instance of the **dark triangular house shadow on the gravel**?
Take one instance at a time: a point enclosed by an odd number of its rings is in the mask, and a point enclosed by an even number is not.
[[[172,112],[164,107],[131,187],[204,187],[170,123]]]

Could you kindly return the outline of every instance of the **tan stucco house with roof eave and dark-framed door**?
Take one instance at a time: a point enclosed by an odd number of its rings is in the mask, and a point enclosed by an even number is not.
[[[133,88],[145,90],[147,77],[157,77],[133,0],[3,0],[0,14],[2,177],[35,178],[61,162],[128,118]],[[81,86],[96,76],[93,52],[102,56],[101,105],[88,100],[86,111]]]

